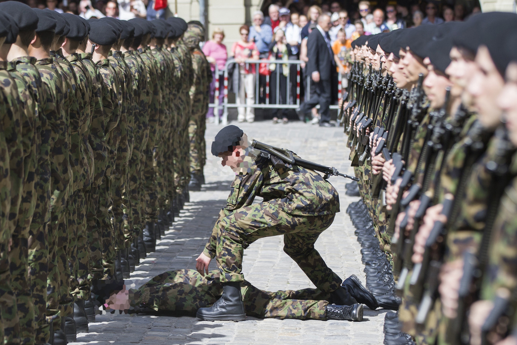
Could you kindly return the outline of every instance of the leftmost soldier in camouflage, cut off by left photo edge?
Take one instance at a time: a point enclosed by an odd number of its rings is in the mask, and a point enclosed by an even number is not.
[[[18,26],[12,17],[0,14],[0,48],[11,44],[18,35]],[[11,272],[9,268],[8,245],[16,223],[23,192],[24,169],[29,167],[31,159],[31,139],[34,137],[34,108],[23,102],[22,97],[29,97],[18,92],[17,81],[13,79],[9,64],[0,55],[0,198],[2,198],[2,215],[0,220],[0,339],[4,339],[4,327],[12,336],[13,327],[18,324],[16,296],[12,292]],[[33,104],[34,106],[34,104]],[[32,111],[32,113],[31,113]],[[24,128],[24,126],[26,126]],[[9,338],[7,338],[9,339]]]

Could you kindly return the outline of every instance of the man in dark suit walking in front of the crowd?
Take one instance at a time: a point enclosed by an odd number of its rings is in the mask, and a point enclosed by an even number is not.
[[[307,41],[307,71],[314,82],[314,93],[311,98],[303,102],[299,109],[299,115],[305,116],[310,110],[320,104],[320,126],[334,127],[330,123],[330,100],[332,95],[332,74],[336,73],[336,62],[330,47],[330,36],[328,31],[331,27],[330,17],[322,14],[318,18],[318,24],[309,35]],[[312,87],[311,87],[312,89]],[[311,90],[312,91],[312,90]]]

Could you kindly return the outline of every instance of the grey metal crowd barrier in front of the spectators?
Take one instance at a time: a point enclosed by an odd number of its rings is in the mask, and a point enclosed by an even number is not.
[[[259,83],[259,67],[261,63],[267,63],[267,64],[276,64],[276,65],[289,65],[287,68],[287,85],[286,85],[286,102],[287,104],[280,104],[280,87],[277,87],[276,90],[276,102],[273,104],[269,103],[269,82],[270,82],[270,76],[265,76],[266,78],[266,85],[265,85],[265,92],[266,92],[266,103],[258,103],[258,95],[260,93],[260,83]],[[302,63],[301,60],[268,60],[268,59],[262,59],[262,60],[253,60],[249,59],[246,60],[246,68],[249,68],[250,64],[255,64],[255,103],[253,104],[237,104],[237,103],[229,103],[228,102],[228,67],[232,64],[237,64],[235,62],[235,59],[228,59],[226,62],[226,65],[224,66],[224,85],[223,85],[223,92],[224,92],[224,101],[223,104],[219,104],[219,95],[221,92],[221,85],[219,83],[219,69],[217,67],[217,64],[215,65],[215,76],[216,76],[216,85],[215,85],[215,95],[214,95],[214,103],[210,103],[209,107],[214,108],[214,121],[216,124],[219,123],[219,109],[223,107],[223,115],[221,119],[221,123],[223,125],[226,125],[228,123],[228,109],[230,108],[238,108],[238,107],[249,107],[249,108],[262,108],[262,109],[298,109],[300,107],[300,64]],[[296,104],[291,103],[290,99],[290,92],[291,92],[291,65],[296,65]],[[277,67],[278,68],[278,67]],[[234,73],[239,73],[238,65],[235,66]],[[276,73],[276,85],[279,85],[280,83],[280,73]],[[311,89],[311,76],[307,76],[307,94],[305,95],[305,99],[310,98],[310,89]],[[341,100],[342,96],[342,86],[341,86],[341,73],[338,73],[338,99]],[[237,91],[238,92],[238,91]],[[237,94],[236,92],[236,94]],[[237,95],[235,97],[237,99]],[[316,108],[319,108],[318,105]],[[339,109],[339,106],[337,105],[331,105],[330,109]]]

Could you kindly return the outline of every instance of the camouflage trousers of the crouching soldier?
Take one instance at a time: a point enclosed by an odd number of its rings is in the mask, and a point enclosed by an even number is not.
[[[284,235],[284,252],[300,266],[316,288],[324,292],[337,290],[342,282],[327,266],[314,243],[334,220],[334,214],[297,216],[282,211],[269,202],[239,208],[220,217],[216,261],[221,281],[244,281],[244,249],[259,238]],[[221,211],[222,212],[222,211]]]

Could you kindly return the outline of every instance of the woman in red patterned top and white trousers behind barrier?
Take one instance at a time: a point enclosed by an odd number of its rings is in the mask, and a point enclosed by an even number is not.
[[[255,43],[248,40],[250,27],[242,25],[239,28],[240,41],[233,43],[231,55],[235,58],[235,62],[239,64],[239,87],[237,93],[237,104],[253,104],[255,97],[255,64],[246,64],[248,59],[257,60],[258,50]],[[245,101],[246,99],[246,101]],[[246,113],[245,113],[246,109]],[[238,122],[255,121],[255,111],[251,107],[237,108]]]

